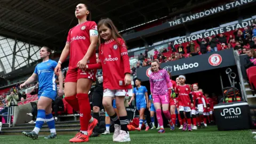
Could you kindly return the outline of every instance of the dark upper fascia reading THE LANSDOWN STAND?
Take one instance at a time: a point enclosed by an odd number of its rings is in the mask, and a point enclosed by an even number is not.
[[[248,4],[248,3],[252,3],[252,2],[255,2],[256,0],[238,0],[238,1],[234,1],[234,2],[231,2],[231,3],[228,3],[226,5],[223,5],[223,9],[224,7],[226,7],[223,11],[226,11],[226,10],[231,10],[232,8],[234,7],[237,7],[237,6],[243,6],[245,4]],[[220,6],[221,7],[221,6]],[[213,8],[214,9],[214,8]],[[218,8],[217,7],[217,11],[218,9],[221,10],[221,8]],[[207,12],[206,12],[207,11]],[[206,13],[208,14],[208,11],[216,11],[216,10],[206,10],[204,11],[203,13]],[[223,12],[222,10],[219,11],[219,12]],[[192,15],[196,15],[197,13],[195,14],[192,14]],[[215,14],[215,13],[213,13]],[[199,13],[200,15],[200,13]],[[202,14],[201,14],[202,15]],[[212,14],[209,14],[209,15],[212,15]],[[207,17],[209,15],[205,15],[204,14],[204,17]],[[189,19],[190,19],[190,16],[188,16]],[[192,16],[194,17],[194,16]],[[204,17],[200,17],[200,18],[204,18]],[[184,18],[186,20],[186,18]],[[199,18],[196,18],[196,19],[199,19]],[[196,19],[190,19],[190,20],[187,20],[186,22],[190,22],[190,21],[193,21],[193,20],[196,20]],[[176,20],[177,21],[177,20]],[[151,34],[154,34],[154,33],[161,33],[161,31],[165,31],[166,29],[169,29],[171,27],[174,27],[174,26],[177,26],[177,25],[180,25],[180,23],[177,22],[176,25],[173,25],[173,22],[171,22],[172,24],[170,24],[171,21],[167,21],[165,23],[163,23],[162,25],[159,25],[159,26],[155,26],[155,27],[151,27],[151,28],[148,28],[148,29],[144,29],[144,30],[141,30],[141,31],[138,31],[136,33],[132,33],[132,34],[128,34],[128,35],[125,35],[123,36],[124,40],[125,41],[130,41],[131,39],[135,39],[135,38],[140,38],[142,36],[147,36],[147,35],[151,35]]]

